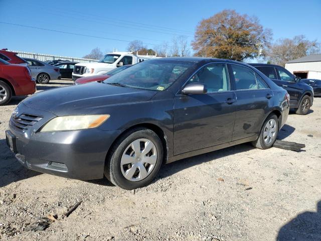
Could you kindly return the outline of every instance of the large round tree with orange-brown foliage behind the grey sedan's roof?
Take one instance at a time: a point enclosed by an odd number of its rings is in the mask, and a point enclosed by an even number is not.
[[[256,45],[269,45],[271,36],[256,17],[224,10],[198,24],[192,47],[196,56],[242,61],[256,57]]]

